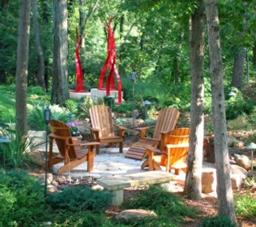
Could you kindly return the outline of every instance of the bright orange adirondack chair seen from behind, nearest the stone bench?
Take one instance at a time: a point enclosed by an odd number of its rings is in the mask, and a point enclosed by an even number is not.
[[[167,135],[162,151],[151,146],[145,146],[145,148],[148,159],[141,165],[141,169],[148,167],[150,171],[161,170],[160,166],[165,166],[167,172],[175,169],[175,174],[177,175],[179,175],[180,169],[186,172],[189,128],[177,128]]]

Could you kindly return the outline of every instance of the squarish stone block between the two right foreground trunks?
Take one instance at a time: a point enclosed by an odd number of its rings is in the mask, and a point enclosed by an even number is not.
[[[211,193],[216,191],[217,177],[216,169],[204,169],[202,172],[202,193]]]

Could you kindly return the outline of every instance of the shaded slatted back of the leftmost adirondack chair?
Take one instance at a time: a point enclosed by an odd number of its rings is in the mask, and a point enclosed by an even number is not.
[[[69,127],[61,121],[50,120],[49,126],[51,129],[51,134],[49,138],[54,139],[58,147],[59,153],[65,157],[65,151],[68,149],[69,158],[76,158],[76,151],[74,146],[67,148],[67,144],[73,144],[72,136]]]

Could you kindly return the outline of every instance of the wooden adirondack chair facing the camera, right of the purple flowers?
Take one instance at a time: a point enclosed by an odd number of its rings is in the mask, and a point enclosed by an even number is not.
[[[123,152],[123,136],[127,128],[113,124],[111,108],[104,105],[95,105],[89,109],[91,121],[91,140],[99,143],[119,143],[119,152]],[[119,135],[116,136],[114,127],[118,128]],[[99,145],[96,146],[99,154]]]

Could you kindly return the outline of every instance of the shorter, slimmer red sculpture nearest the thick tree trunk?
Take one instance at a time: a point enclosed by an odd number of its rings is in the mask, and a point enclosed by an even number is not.
[[[82,66],[80,61],[80,53],[79,47],[82,38],[79,40],[78,31],[76,29],[76,54],[75,54],[75,62],[76,62],[76,89],[72,90],[72,92],[87,92],[83,89],[83,75],[82,75]]]

